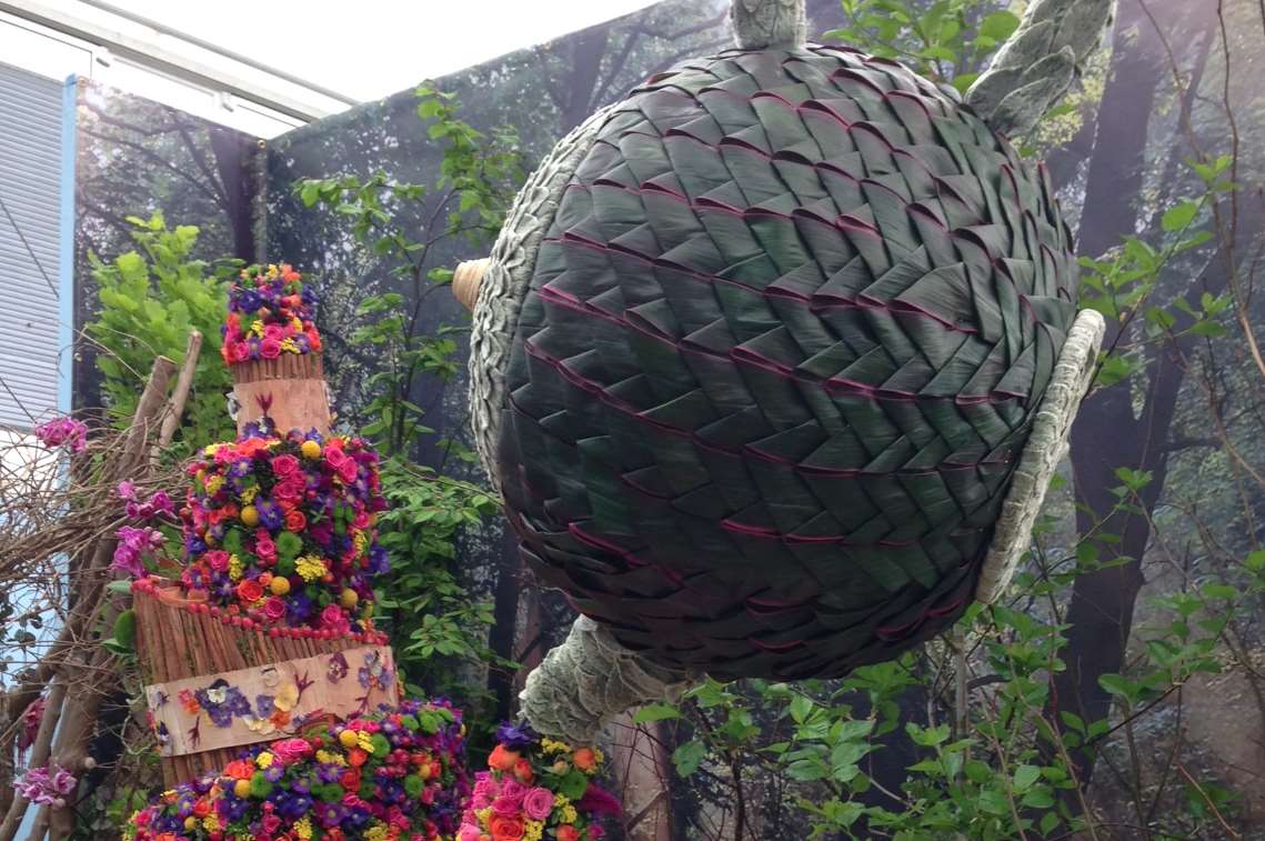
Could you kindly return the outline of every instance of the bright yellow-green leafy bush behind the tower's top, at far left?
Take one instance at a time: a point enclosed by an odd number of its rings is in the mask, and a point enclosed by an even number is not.
[[[220,358],[220,325],[228,291],[240,263],[192,257],[197,228],[167,226],[162,214],[129,216],[135,250],[106,263],[89,254],[100,309],[86,325],[96,349],[96,365],[110,416],[125,426],[135,412],[153,362],[163,355],[177,365],[192,330],[202,334],[202,349],[185,406],[177,441],[191,450],[207,441],[231,439],[234,427],[225,411],[233,387]]]

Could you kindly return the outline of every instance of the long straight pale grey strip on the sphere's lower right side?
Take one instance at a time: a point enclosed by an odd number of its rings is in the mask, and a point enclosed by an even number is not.
[[[1032,541],[1032,524],[1041,512],[1046,488],[1068,451],[1068,434],[1077,408],[1089,391],[1098,363],[1098,349],[1107,325],[1094,310],[1082,310],[1071,325],[1054,378],[1032,420],[1023,454],[1020,457],[1011,489],[993,530],[993,543],[975,586],[975,598],[985,605],[997,601],[1015,577],[1023,553]]]

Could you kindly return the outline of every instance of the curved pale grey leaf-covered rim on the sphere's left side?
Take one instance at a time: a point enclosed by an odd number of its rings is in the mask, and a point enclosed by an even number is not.
[[[614,106],[603,107],[572,129],[540,162],[514,200],[479,278],[471,325],[471,426],[474,449],[497,492],[501,483],[496,476],[496,441],[519,310],[531,283],[540,240],[553,224],[562,193],[612,110]]]

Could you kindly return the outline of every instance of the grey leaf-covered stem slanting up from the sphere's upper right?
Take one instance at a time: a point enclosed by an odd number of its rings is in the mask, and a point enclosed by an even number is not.
[[[1031,132],[1098,48],[1114,8],[1114,0],[1034,0],[966,104],[994,132]]]

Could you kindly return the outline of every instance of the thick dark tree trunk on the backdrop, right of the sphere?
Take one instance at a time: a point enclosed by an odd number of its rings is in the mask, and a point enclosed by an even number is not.
[[[1155,4],[1150,10],[1170,42],[1178,38],[1179,43],[1189,44],[1200,34],[1204,37],[1199,66],[1194,68],[1198,76],[1207,57],[1207,39],[1212,37],[1214,9],[1207,4],[1207,14],[1198,15],[1202,33],[1185,28],[1179,32],[1174,25],[1182,11],[1178,5]],[[1098,139],[1080,224],[1078,250],[1085,255],[1099,255],[1117,245],[1122,236],[1135,233],[1138,219],[1135,202],[1142,195],[1150,116],[1157,85],[1171,78],[1164,43],[1138,0],[1121,3],[1114,43],[1117,52],[1099,107]],[[1197,82],[1192,87],[1197,87]],[[1179,177],[1179,172],[1178,167],[1170,167],[1170,176]],[[1161,185],[1161,190],[1168,186]],[[1225,263],[1213,261],[1204,277],[1192,279],[1193,298],[1198,301],[1203,290],[1225,288]],[[1104,348],[1121,338],[1120,330],[1120,324],[1108,322]],[[1140,492],[1140,500],[1147,513],[1154,510],[1164,489],[1169,429],[1185,373],[1178,364],[1182,350],[1174,345],[1150,350],[1145,372],[1136,374],[1145,377],[1146,383],[1141,411],[1135,414],[1133,388],[1126,379],[1097,391],[1085,401],[1073,426],[1071,464],[1077,500],[1083,506],[1077,512],[1078,532],[1117,535],[1118,543],[1098,544],[1099,559],[1130,559],[1118,567],[1084,573],[1073,586],[1064,618],[1070,625],[1063,654],[1066,669],[1054,677],[1051,706],[1054,712],[1074,712],[1085,722],[1098,721],[1111,712],[1111,696],[1098,679],[1122,669],[1133,606],[1144,583],[1142,556],[1151,534],[1142,516],[1118,512],[1102,521],[1095,516],[1112,511],[1120,501],[1112,493],[1112,488],[1121,484],[1116,477],[1120,467],[1151,473],[1151,482]],[[1058,717],[1055,722],[1059,723]],[[1073,760],[1082,785],[1088,785],[1093,774],[1090,755],[1073,751]]]

